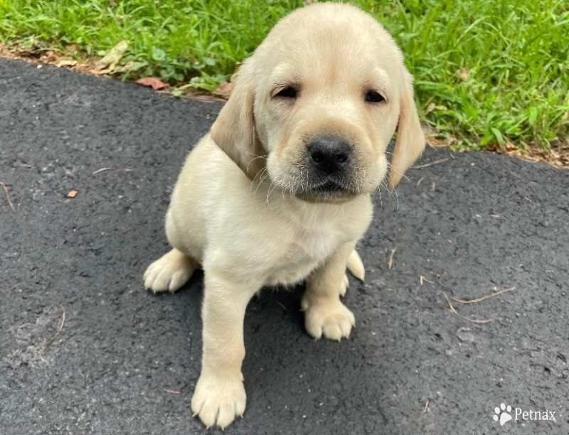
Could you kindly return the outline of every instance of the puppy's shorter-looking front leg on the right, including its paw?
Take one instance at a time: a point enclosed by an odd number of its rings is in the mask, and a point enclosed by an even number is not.
[[[314,338],[348,338],[356,320],[340,301],[348,258],[356,243],[345,243],[310,274],[302,296],[304,326]]]

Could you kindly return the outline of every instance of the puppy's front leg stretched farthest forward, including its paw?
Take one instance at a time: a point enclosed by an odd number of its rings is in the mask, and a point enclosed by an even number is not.
[[[191,410],[207,427],[217,425],[223,429],[245,412],[243,319],[249,300],[261,285],[238,283],[223,274],[205,271],[201,375]]]

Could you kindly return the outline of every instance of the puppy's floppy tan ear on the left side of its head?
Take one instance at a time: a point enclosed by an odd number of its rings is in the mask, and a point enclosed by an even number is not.
[[[265,166],[267,153],[255,133],[255,80],[251,70],[250,63],[245,62],[238,71],[233,92],[211,127],[211,137],[253,179]]]

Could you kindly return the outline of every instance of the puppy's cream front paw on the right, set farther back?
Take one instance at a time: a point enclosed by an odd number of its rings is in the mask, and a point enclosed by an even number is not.
[[[304,326],[314,338],[340,341],[348,338],[351,328],[356,326],[353,313],[339,299],[304,294],[302,298]]]

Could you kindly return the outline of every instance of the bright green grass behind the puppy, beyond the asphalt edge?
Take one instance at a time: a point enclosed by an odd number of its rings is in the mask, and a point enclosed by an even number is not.
[[[355,0],[393,34],[423,119],[459,146],[569,141],[565,0]],[[213,90],[300,0],[0,0],[0,41],[102,56],[123,77]]]

